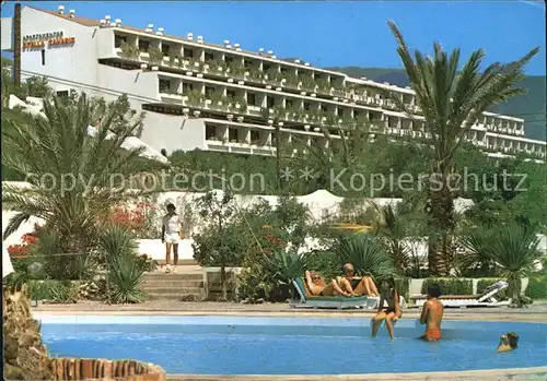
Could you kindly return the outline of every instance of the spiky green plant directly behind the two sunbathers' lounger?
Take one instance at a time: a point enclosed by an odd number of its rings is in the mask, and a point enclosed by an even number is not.
[[[331,251],[338,257],[340,265],[353,264],[356,275],[370,273],[373,276],[383,276],[396,273],[389,254],[374,236],[362,234],[341,236]]]

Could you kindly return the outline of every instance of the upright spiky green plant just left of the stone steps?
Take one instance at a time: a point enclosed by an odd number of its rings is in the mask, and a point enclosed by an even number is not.
[[[108,272],[110,301],[141,302],[146,297],[140,289],[144,271],[137,261],[137,243],[132,234],[124,227],[109,226],[100,237],[100,248]]]

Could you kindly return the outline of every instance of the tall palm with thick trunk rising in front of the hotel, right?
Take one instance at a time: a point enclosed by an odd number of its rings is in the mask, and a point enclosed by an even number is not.
[[[451,53],[434,43],[433,57],[420,51],[410,53],[401,33],[393,21],[388,25],[397,40],[397,52],[421,107],[426,130],[431,133],[433,158],[427,192],[431,204],[432,230],[429,241],[429,269],[433,275],[450,273],[454,228],[454,193],[449,184],[454,172],[454,155],[462,141],[481,114],[492,106],[524,93],[519,83],[524,79],[524,66],[537,53],[538,47],[510,63],[492,63],[482,72],[485,51],[475,50],[459,68],[459,49]],[[414,112],[395,94],[396,105],[412,118]]]

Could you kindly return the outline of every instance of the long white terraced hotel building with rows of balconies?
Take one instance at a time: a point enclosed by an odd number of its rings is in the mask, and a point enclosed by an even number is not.
[[[13,50],[12,19],[2,19],[2,50]],[[161,26],[161,25],[159,25]],[[238,44],[206,43],[201,36],[139,29],[117,15],[83,19],[73,10],[21,12],[22,79],[45,75],[58,94],[70,90],[114,99],[127,94],[147,111],[141,140],[171,153],[194,148],[271,155],[279,129],[293,138],[336,143],[337,124],[370,123],[374,133],[428,139],[409,88],[251,52]],[[60,39],[62,38],[62,39]],[[397,112],[382,88],[398,93],[415,116]],[[546,143],[524,138],[524,120],[485,112],[468,139],[490,155],[524,152],[545,158]]]

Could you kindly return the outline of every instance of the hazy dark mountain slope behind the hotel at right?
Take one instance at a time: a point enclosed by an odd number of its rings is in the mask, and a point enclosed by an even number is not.
[[[408,78],[400,69],[385,68],[328,68],[341,71],[350,76],[362,78],[376,82],[388,82],[398,86],[408,86]],[[526,138],[543,140],[546,139],[546,78],[538,75],[526,76],[522,82],[526,88],[526,95],[517,96],[509,102],[498,105],[493,112],[511,115],[523,118],[524,132]]]

